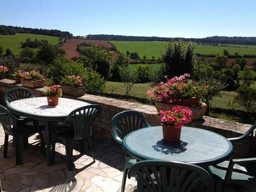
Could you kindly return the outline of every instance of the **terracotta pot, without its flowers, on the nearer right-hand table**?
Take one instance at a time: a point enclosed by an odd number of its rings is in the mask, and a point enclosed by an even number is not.
[[[162,125],[164,142],[179,142],[181,129],[176,129],[174,126]]]

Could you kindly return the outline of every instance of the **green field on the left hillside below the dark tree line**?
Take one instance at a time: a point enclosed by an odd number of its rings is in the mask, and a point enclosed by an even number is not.
[[[56,45],[58,43],[58,37],[53,36],[45,36],[45,35],[35,35],[35,34],[27,34],[27,33],[17,33],[16,35],[0,35],[0,45],[4,48],[11,48],[14,55],[18,55],[21,52],[21,42],[26,41],[27,38],[31,38],[31,40],[47,40],[48,42]]]

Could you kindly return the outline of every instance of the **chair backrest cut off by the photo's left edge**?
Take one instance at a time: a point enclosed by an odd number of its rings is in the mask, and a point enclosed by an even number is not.
[[[13,127],[16,126],[16,117],[2,105],[0,105],[0,122],[4,132],[8,135],[13,135]]]

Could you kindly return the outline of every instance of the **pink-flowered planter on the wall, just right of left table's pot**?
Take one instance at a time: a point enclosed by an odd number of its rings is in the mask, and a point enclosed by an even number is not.
[[[63,94],[80,97],[85,95],[85,87],[82,86],[80,76],[65,76],[61,80]]]

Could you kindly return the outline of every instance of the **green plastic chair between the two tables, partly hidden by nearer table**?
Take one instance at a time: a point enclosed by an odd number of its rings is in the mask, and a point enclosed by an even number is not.
[[[150,127],[149,122],[139,111],[123,111],[112,117],[111,134],[116,142],[122,145],[122,139],[132,131],[143,127]],[[129,168],[137,162],[126,155],[124,175],[122,177],[121,192],[125,191],[125,183]]]

